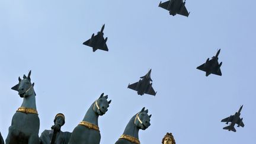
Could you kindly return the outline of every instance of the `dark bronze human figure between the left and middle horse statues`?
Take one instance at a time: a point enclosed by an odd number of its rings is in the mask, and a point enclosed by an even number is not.
[[[71,137],[70,132],[62,132],[60,128],[65,124],[65,116],[58,113],[55,116],[52,130],[44,130],[40,136],[40,144],[68,144]]]

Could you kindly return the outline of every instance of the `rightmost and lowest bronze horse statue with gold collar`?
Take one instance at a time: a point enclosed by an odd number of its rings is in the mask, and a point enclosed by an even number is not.
[[[148,115],[148,110],[145,110],[145,107],[143,107],[139,113],[136,113],[130,119],[126,129],[124,129],[123,135],[120,136],[115,144],[140,144],[139,130],[147,129],[151,125],[150,119],[151,115]]]

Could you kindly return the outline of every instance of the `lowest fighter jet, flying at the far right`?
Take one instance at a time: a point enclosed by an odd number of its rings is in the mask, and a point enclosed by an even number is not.
[[[223,129],[229,130],[229,131],[232,130],[233,132],[236,132],[236,129],[234,127],[235,124],[238,124],[237,127],[239,127],[239,126],[244,127],[244,123],[242,122],[242,119],[240,119],[240,114],[241,114],[242,106],[239,108],[238,112],[235,113],[235,115],[233,115],[233,116],[231,115],[231,116],[227,117],[226,119],[222,120],[222,122],[226,122],[226,124],[231,122],[231,124],[229,126],[223,127]]]

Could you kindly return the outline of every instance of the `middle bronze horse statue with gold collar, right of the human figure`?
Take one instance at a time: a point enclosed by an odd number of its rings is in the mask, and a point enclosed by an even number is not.
[[[108,110],[110,101],[108,95],[100,95],[100,98],[91,104],[84,119],[72,132],[69,144],[99,144],[101,135],[98,127],[98,117],[103,116]]]

